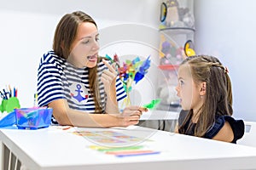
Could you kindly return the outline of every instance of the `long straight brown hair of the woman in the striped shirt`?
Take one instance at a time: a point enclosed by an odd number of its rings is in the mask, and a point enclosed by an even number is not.
[[[53,41],[53,50],[55,54],[63,59],[67,59],[71,53],[71,45],[77,35],[79,24],[82,22],[90,22],[96,26],[89,14],[82,11],[76,11],[72,14],[65,14],[58,23],[55,30],[55,37]],[[101,59],[97,60],[97,63]],[[90,93],[93,96],[96,113],[102,113],[102,106],[100,104],[101,97],[99,92],[99,80],[97,76],[97,66],[89,68],[89,85]]]

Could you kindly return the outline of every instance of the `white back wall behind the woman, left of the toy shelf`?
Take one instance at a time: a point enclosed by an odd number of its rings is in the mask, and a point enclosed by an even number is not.
[[[83,10],[96,20],[100,31],[109,26],[129,23],[146,26],[148,30],[153,30],[155,33],[158,32],[159,9],[157,7],[159,3],[155,0],[44,0],[37,2],[33,0],[0,0],[0,89],[9,84],[12,87],[15,86],[19,90],[20,105],[22,107],[33,105],[33,94],[37,89],[38,62],[40,57],[51,49],[55,26],[62,15],[75,10]],[[135,39],[131,40],[135,41],[136,37],[140,39],[143,33],[145,34],[143,31],[131,32],[129,27],[119,31],[133,35]],[[111,36],[114,37],[114,34]],[[147,36],[150,38],[149,35]],[[152,39],[154,38],[152,37]],[[106,41],[102,39],[102,42]],[[157,59],[155,49],[148,48],[149,45],[143,45],[142,48],[137,49],[137,52],[143,51],[141,54],[147,54],[145,57],[148,54],[153,54],[153,57]],[[153,44],[153,46],[155,45]],[[125,48],[127,51],[127,46]],[[107,48],[104,49],[107,53]],[[125,55],[122,48],[118,48],[116,53]],[[132,54],[136,54],[136,52]],[[157,62],[155,59],[153,59],[154,65]],[[148,76],[152,74],[154,74],[154,70],[148,72]],[[153,78],[150,81],[155,84],[156,79]],[[147,81],[143,83],[147,83]],[[143,94],[143,98],[148,101],[153,96],[154,94]]]

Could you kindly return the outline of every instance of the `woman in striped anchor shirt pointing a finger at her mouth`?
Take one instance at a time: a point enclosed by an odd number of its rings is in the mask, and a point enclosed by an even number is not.
[[[53,50],[38,68],[38,105],[53,108],[53,122],[77,127],[127,127],[138,123],[142,111],[129,106],[114,65],[98,56],[99,33],[90,15],[65,14],[55,30]]]

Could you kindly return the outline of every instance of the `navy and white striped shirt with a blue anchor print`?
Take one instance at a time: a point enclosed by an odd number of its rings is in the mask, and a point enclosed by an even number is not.
[[[100,77],[102,71],[107,68],[102,62],[97,64],[102,112],[105,110],[107,96]],[[46,106],[55,99],[67,99],[70,108],[95,113],[96,106],[88,77],[87,67],[76,68],[66,59],[57,56],[54,51],[49,51],[41,58],[38,68],[38,105]],[[116,78],[116,91],[118,101],[126,97],[119,77]]]

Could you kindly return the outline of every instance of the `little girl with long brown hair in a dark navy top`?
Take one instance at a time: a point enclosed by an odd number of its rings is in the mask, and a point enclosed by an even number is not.
[[[177,96],[188,111],[177,133],[236,143],[244,133],[244,122],[236,121],[227,68],[211,56],[188,57],[179,66]]]

